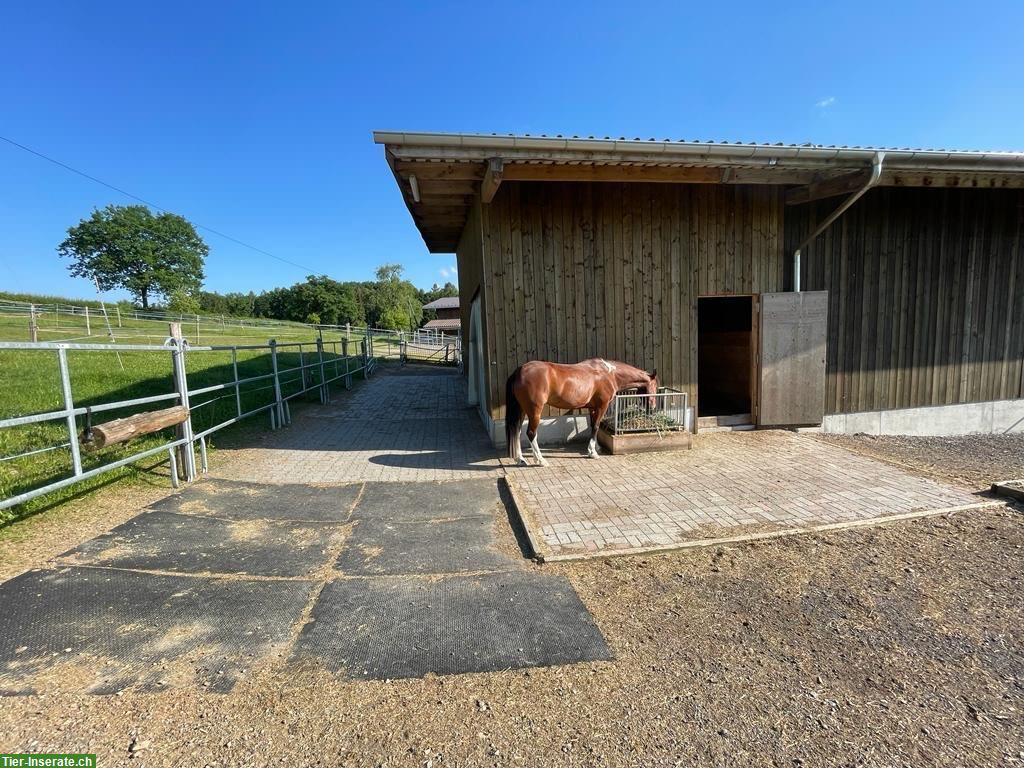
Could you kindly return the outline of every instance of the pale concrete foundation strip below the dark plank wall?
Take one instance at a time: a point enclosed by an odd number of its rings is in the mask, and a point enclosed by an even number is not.
[[[918,436],[1024,432],[1024,399],[831,414],[821,431]]]

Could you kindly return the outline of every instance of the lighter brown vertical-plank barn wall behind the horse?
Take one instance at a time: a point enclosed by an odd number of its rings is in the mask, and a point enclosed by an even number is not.
[[[529,359],[610,357],[694,392],[696,297],[782,290],[778,187],[505,182],[479,210],[495,418]]]

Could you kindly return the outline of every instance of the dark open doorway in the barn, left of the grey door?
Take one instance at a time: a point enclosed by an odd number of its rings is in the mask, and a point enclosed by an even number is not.
[[[730,417],[718,423],[751,423],[753,344],[753,297],[697,299],[697,416],[701,419]]]

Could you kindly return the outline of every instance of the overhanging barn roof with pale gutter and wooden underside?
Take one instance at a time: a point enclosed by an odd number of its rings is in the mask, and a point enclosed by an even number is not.
[[[855,187],[883,153],[882,185],[1024,186],[1024,152],[404,131],[374,141],[435,253],[455,251],[475,196],[489,201],[503,180],[786,184],[799,204],[813,185]]]

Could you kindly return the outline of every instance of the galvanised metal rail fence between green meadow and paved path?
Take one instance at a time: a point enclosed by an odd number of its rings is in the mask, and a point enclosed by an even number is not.
[[[321,401],[329,402],[331,384],[341,381],[346,388],[351,388],[352,377],[355,374],[361,373],[364,377],[369,377],[374,372],[377,362],[372,351],[373,343],[368,343],[368,340],[371,338],[372,336],[368,334],[367,339],[358,342],[358,354],[349,354],[348,347],[350,342],[348,340],[325,341],[321,339],[311,342],[288,343],[279,343],[271,339],[265,344],[237,346],[193,346],[189,345],[186,339],[175,337],[168,338],[160,345],[0,342],[0,353],[4,350],[13,350],[28,351],[33,355],[55,355],[57,362],[56,373],[59,378],[59,389],[62,400],[61,408],[58,410],[0,419],[0,433],[3,433],[4,430],[11,430],[17,427],[55,422],[63,424],[68,436],[65,442],[42,449],[33,449],[12,456],[3,456],[0,457],[0,461],[6,462],[52,451],[67,450],[69,453],[68,471],[70,472],[70,476],[0,499],[0,510],[8,509],[45,494],[74,485],[75,483],[111,472],[148,457],[157,456],[161,453],[167,453],[168,455],[171,482],[174,487],[178,486],[179,474],[187,481],[195,480],[198,471],[207,471],[207,438],[218,430],[261,413],[269,414],[270,427],[271,429],[276,429],[291,423],[290,400],[316,390]],[[114,352],[118,355],[122,352],[170,354],[171,377],[169,391],[144,397],[92,403],[88,407],[77,406],[72,394],[72,377],[74,371],[69,361],[69,352],[73,352],[76,355],[83,352],[89,354]],[[287,352],[288,354],[283,355],[283,352]],[[229,355],[230,378],[223,382],[205,386],[190,384],[187,360],[195,358],[196,355],[215,353]],[[240,375],[240,353],[250,355],[250,361],[261,359],[260,355],[265,354],[270,364],[270,371],[252,376]],[[297,365],[286,365],[284,356],[297,359]],[[194,374],[193,379],[195,378],[197,376]],[[247,386],[249,387],[245,391],[247,396],[260,391],[272,391],[270,401],[250,408],[249,410],[244,410],[243,389]],[[198,411],[204,406],[213,402],[214,399],[219,399],[221,396],[229,397],[231,395],[233,395],[234,400],[234,409],[231,415],[205,429],[195,429],[194,417]],[[203,402],[195,401],[196,398],[204,396],[208,399]],[[143,451],[117,459],[116,461],[110,461],[89,469],[83,468],[82,443],[79,436],[80,419],[84,418],[87,422],[91,422],[93,416],[97,414],[116,411],[123,412],[155,402],[180,404],[188,412],[188,417],[177,428],[177,434],[173,439],[163,440],[159,445],[146,447]],[[197,470],[196,466],[197,446],[200,453],[200,470]],[[179,466],[179,458],[181,466]]]

